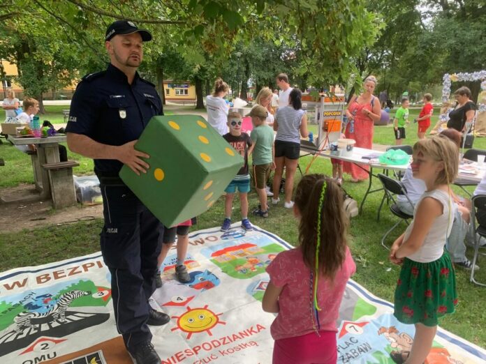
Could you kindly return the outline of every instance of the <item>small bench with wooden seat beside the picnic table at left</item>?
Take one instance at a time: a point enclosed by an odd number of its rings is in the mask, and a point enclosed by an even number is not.
[[[55,162],[42,165],[49,174],[49,183],[52,196],[52,206],[63,208],[76,204],[74,191],[73,167],[80,165],[75,160]]]

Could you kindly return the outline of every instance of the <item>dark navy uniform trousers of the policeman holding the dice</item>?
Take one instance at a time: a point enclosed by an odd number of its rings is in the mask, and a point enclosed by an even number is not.
[[[126,185],[100,185],[105,225],[101,252],[110,269],[118,332],[127,349],[152,340],[149,298],[161,252],[163,226]]]

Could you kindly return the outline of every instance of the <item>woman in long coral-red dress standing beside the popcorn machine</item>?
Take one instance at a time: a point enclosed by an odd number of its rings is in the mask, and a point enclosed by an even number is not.
[[[368,76],[364,80],[364,91],[360,96],[353,96],[346,109],[348,124],[346,138],[354,139],[355,146],[371,149],[373,146],[374,121],[381,119],[380,100],[373,95],[376,87],[376,77]],[[361,165],[364,169],[368,166]],[[359,182],[369,178],[369,174],[354,163],[344,162],[344,172],[351,174],[351,182]]]

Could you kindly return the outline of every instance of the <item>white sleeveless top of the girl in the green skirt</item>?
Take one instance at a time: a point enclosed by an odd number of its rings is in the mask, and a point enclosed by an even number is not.
[[[452,201],[452,197],[449,197],[448,193],[442,190],[432,190],[430,192],[424,192],[420,197],[417,204],[415,204],[415,210],[413,211],[413,218],[415,221],[415,214],[417,208],[425,197],[432,197],[442,204],[442,215],[440,215],[432,223],[432,227],[429,233],[425,236],[424,242],[419,250],[409,255],[407,258],[419,263],[429,263],[431,261],[439,259],[444,251],[445,241],[450,235],[452,229],[452,222],[454,221],[456,206]],[[449,202],[450,199],[450,202]],[[449,211],[449,206],[451,211]],[[410,236],[413,229],[413,222],[408,225],[405,230],[404,241]]]

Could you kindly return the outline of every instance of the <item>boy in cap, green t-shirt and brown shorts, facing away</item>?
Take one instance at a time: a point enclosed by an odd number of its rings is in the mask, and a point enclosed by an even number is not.
[[[256,192],[260,200],[260,206],[253,215],[268,217],[267,192],[265,190],[270,171],[275,169],[274,132],[267,125],[268,112],[265,107],[256,105],[249,113],[253,130],[251,140],[253,141],[253,176],[255,179]]]

